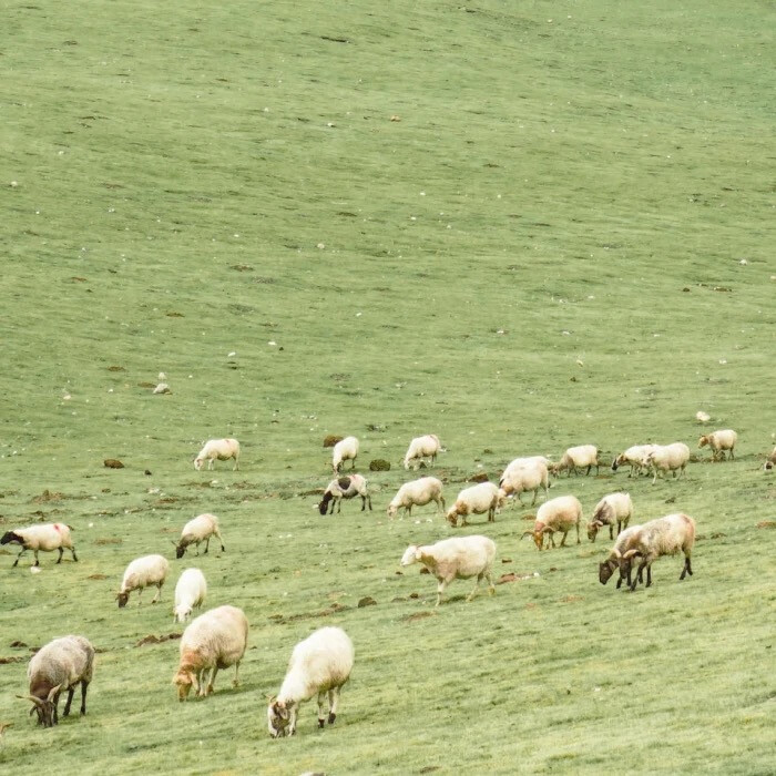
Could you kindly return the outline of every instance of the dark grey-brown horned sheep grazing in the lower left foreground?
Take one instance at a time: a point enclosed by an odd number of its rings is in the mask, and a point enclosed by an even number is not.
[[[75,685],[81,684],[81,715],[86,713],[86,688],[94,670],[94,647],[83,636],[54,639],[38,650],[27,667],[30,693],[17,695],[22,701],[32,701],[30,714],[38,713],[38,724],[53,727],[59,724],[59,697],[68,691],[64,716],[70,714]]]

